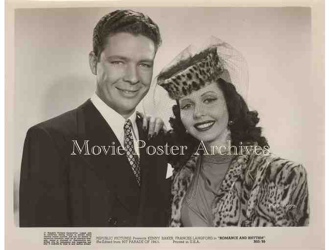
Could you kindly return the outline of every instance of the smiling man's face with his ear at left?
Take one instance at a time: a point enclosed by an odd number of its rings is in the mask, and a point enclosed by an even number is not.
[[[119,32],[108,37],[98,61],[90,54],[91,69],[97,76],[96,94],[125,118],[150,88],[155,52],[151,39]]]

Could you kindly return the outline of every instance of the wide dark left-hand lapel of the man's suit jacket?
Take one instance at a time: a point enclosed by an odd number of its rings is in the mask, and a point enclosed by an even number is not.
[[[94,104],[88,100],[80,107],[78,112],[80,145],[83,145],[85,140],[89,140],[91,154],[93,153],[91,150],[93,146],[114,146],[112,149],[118,149],[121,146],[118,138]],[[95,152],[97,151],[95,150]],[[120,150],[120,152],[122,151]],[[106,181],[107,190],[116,192],[118,199],[128,210],[137,211],[140,188],[126,154],[119,155],[116,151],[112,154],[110,149],[107,154],[102,151],[98,155],[81,154],[80,156],[88,163],[89,167],[94,169],[101,180]]]

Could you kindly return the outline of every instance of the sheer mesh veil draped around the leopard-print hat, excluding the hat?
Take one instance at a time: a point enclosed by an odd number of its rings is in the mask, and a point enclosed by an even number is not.
[[[228,43],[211,36],[201,47],[189,45],[180,52],[174,59],[166,65],[159,75],[169,71],[173,67],[178,67],[182,61],[188,61],[193,56],[200,54],[202,51],[216,47],[217,55],[223,67],[221,78],[235,85],[237,93],[247,100],[248,93],[248,67],[241,53]],[[184,68],[181,69],[185,70]],[[157,75],[153,82],[147,99],[142,102],[143,112],[147,115],[160,117],[163,119],[165,126],[170,129],[169,118],[173,116],[172,106],[176,100],[169,98],[168,93],[163,87],[158,85]]]

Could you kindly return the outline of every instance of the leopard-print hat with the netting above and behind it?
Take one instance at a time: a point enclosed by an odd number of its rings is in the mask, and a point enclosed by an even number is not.
[[[157,77],[170,99],[179,100],[213,82],[218,77],[235,85],[246,98],[248,70],[243,56],[229,44],[211,37],[206,46],[193,52],[189,46],[165,67]]]

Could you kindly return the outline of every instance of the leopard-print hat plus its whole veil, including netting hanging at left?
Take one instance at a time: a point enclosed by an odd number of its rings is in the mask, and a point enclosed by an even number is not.
[[[207,67],[208,66],[208,67]],[[153,79],[141,111],[160,117],[166,129],[177,100],[187,96],[220,77],[235,86],[237,93],[247,99],[248,66],[242,54],[230,44],[211,36],[201,46],[189,45],[167,64]]]

